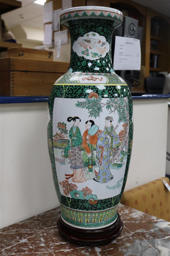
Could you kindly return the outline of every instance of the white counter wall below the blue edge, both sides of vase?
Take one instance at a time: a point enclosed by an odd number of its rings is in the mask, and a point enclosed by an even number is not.
[[[125,190],[165,176],[168,99],[134,100]],[[47,150],[47,103],[2,104],[1,228],[59,205]]]

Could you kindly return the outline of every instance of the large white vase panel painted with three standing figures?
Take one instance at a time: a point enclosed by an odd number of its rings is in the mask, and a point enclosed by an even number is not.
[[[124,98],[55,98],[53,147],[62,195],[100,200],[119,195],[128,154]]]

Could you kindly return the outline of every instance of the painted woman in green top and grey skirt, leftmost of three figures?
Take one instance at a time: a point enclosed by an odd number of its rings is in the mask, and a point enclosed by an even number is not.
[[[70,138],[70,145],[71,145],[71,166],[70,168],[73,169],[73,174],[66,174],[67,179],[70,177],[72,178],[73,182],[85,182],[87,179],[83,174],[82,168],[82,154],[81,154],[81,144],[82,144],[82,136],[79,129],[79,124],[81,119],[78,116],[68,117],[68,122],[73,121],[73,126],[69,131],[69,138]]]

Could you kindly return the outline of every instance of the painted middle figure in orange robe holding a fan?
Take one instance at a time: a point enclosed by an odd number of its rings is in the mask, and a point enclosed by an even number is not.
[[[88,180],[96,177],[95,174],[95,156],[94,156],[94,145],[97,144],[98,137],[96,134],[89,135],[89,129],[95,124],[93,120],[87,120],[85,123],[86,131],[83,133],[82,146],[84,148],[82,160],[83,160],[83,173]]]

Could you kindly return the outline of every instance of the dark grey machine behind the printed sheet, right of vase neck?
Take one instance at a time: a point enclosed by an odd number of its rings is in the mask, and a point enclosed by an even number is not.
[[[115,36],[122,37],[131,37],[137,38],[140,40],[140,45],[142,43],[142,27],[138,26],[138,20],[125,16],[123,18],[123,23],[121,26],[117,27],[112,36],[112,61],[114,56],[114,47],[115,47]],[[130,90],[132,86],[139,85],[139,75],[140,70],[116,70],[118,74],[125,82],[128,84]]]

